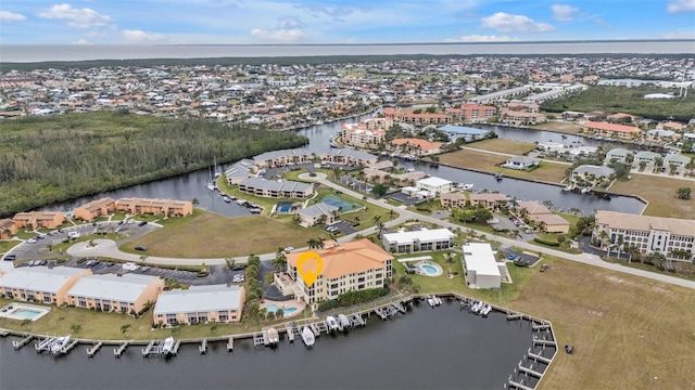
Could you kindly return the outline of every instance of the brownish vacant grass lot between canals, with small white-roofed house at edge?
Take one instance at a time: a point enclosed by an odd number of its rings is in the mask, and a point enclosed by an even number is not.
[[[539,180],[548,183],[560,183],[565,179],[566,165],[541,162],[541,167],[532,171],[519,171],[516,169],[500,168],[497,165],[507,160],[507,157],[495,154],[477,152],[471,150],[456,151],[440,155],[440,161],[457,168],[467,168],[489,173],[503,172],[510,178]]]

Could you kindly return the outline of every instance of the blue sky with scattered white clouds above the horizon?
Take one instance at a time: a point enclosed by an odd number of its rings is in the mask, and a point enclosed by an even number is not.
[[[0,44],[356,44],[603,39],[695,39],[695,0],[0,2]]]

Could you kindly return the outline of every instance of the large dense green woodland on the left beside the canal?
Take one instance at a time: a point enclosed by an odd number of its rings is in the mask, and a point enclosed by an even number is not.
[[[0,216],[307,141],[291,131],[123,110],[3,120]]]

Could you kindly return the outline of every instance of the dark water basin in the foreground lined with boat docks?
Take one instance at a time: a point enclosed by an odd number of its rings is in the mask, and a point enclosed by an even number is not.
[[[164,360],[142,358],[137,346],[121,359],[111,346],[90,359],[78,346],[53,359],[0,339],[0,389],[502,389],[531,343],[528,322],[422,302],[395,320],[372,315],[364,328],[324,334],[312,349],[236,340],[231,353],[224,342],[205,355],[184,344]]]

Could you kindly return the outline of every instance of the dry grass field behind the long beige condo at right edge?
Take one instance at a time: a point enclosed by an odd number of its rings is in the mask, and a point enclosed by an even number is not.
[[[695,219],[695,199],[679,199],[675,191],[690,186],[695,190],[691,180],[632,174],[632,180],[616,181],[610,192],[626,195],[639,195],[649,203],[644,210],[645,216]]]

